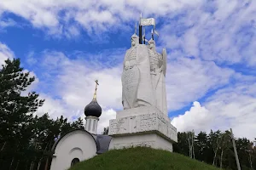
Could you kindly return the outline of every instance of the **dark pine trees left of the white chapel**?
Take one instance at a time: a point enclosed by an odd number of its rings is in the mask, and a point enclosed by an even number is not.
[[[84,128],[80,118],[71,123],[63,116],[56,120],[47,113],[34,116],[44,104],[36,92],[26,93],[34,80],[20,67],[20,59],[6,60],[0,70],[1,169],[49,169],[55,140],[72,129]]]

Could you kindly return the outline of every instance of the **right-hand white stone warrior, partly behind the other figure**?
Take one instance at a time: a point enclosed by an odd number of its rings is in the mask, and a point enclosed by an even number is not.
[[[168,114],[166,102],[166,49],[162,54],[155,50],[155,42],[151,38],[148,41],[148,53],[150,58],[150,75],[154,88],[156,107],[164,114]]]

